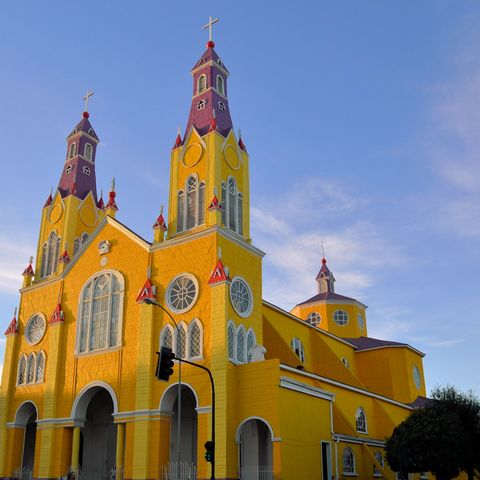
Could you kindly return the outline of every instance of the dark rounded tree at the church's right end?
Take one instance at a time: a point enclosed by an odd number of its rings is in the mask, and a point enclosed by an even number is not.
[[[386,458],[402,473],[432,472],[449,480],[480,470],[480,401],[454,387],[436,388],[433,401],[415,410],[387,440]]]

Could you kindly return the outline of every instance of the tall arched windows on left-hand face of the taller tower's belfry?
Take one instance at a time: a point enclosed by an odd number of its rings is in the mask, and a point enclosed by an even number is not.
[[[177,232],[205,223],[205,182],[196,175],[187,178],[185,190],[177,194]]]

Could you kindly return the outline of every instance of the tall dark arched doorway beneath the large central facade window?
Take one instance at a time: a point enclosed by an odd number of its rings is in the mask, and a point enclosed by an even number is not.
[[[84,422],[78,452],[82,480],[110,479],[117,446],[115,394],[110,387],[92,386],[79,395],[73,410],[74,419]]]

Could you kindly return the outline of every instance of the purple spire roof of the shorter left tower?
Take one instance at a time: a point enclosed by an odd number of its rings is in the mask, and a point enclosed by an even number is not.
[[[82,120],[67,137],[67,156],[58,190],[62,198],[73,194],[82,200],[92,192],[96,203],[95,155],[100,140],[88,117],[88,112],[84,112]]]

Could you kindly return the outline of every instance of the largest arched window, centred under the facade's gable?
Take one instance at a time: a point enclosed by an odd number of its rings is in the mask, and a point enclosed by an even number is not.
[[[102,272],[91,278],[80,295],[79,353],[120,345],[123,277]]]

